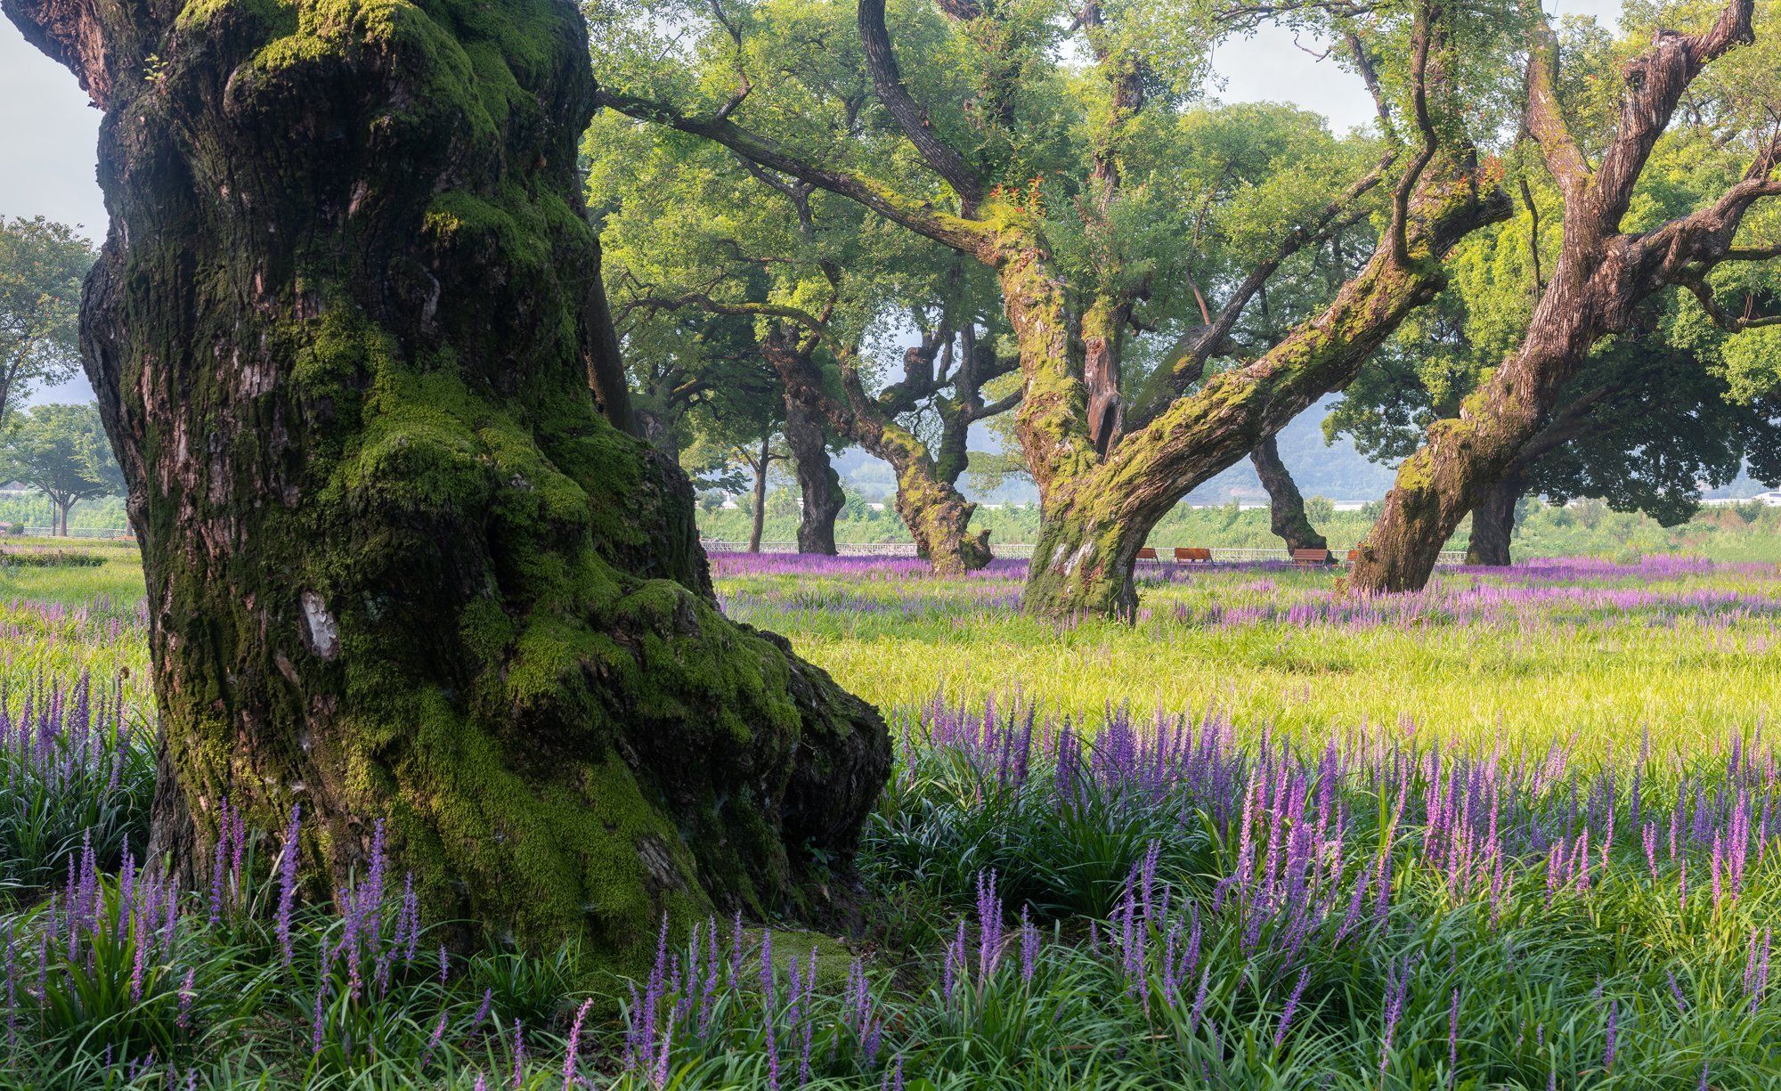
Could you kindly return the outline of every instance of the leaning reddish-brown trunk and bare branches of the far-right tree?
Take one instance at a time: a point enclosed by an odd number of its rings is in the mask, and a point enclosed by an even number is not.
[[[1521,346],[1466,398],[1457,419],[1428,426],[1423,447],[1398,467],[1386,512],[1361,546],[1350,587],[1416,590],[1428,581],[1441,546],[1510,472],[1523,447],[1546,426],[1565,381],[1589,349],[1637,321],[1639,305],[1665,287],[1688,287],[1728,328],[1774,319],[1738,319],[1706,289],[1706,271],[1740,255],[1731,242],[1749,207],[1781,193],[1772,178],[1781,144],[1758,135],[1744,178],[1712,205],[1644,234],[1621,232],[1639,176],[1688,84],[1715,57],[1754,41],[1753,0],[1731,0],[1701,34],[1660,32],[1626,68],[1614,139],[1590,166],[1558,105],[1557,37],[1539,7],[1528,50],[1528,132],[1564,196],[1564,242]],[[1742,257],[1772,257],[1770,251]]]

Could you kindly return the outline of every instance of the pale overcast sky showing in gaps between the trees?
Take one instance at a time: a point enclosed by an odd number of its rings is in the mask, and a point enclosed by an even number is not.
[[[1596,14],[1612,21],[1619,0],[1564,0],[1551,11]],[[1309,43],[1305,43],[1309,45]],[[1293,36],[1266,30],[1218,50],[1227,102],[1293,102],[1318,111],[1338,132],[1373,114],[1366,89],[1334,62],[1297,48]],[[100,112],[66,70],[25,43],[0,20],[0,214],[48,216],[84,225],[94,241],[105,235],[105,201],[94,180]],[[41,390],[34,401],[91,398],[84,380]]]

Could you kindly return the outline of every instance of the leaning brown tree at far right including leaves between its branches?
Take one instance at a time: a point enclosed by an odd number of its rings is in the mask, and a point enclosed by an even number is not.
[[[1781,194],[1781,87],[1772,57],[1738,48],[1756,39],[1754,0],[1633,14],[1626,41],[1592,50],[1590,39],[1562,43],[1537,4],[1523,5],[1523,125],[1560,194],[1562,237],[1525,335],[1398,469],[1350,576],[1357,588],[1423,587],[1443,542],[1516,471],[1590,349],[1631,332],[1651,296],[1687,289],[1728,330],[1781,321],[1728,307],[1715,283],[1728,262],[1781,253],[1772,235],[1740,244],[1753,239],[1753,207]],[[1672,30],[1672,20],[1694,32]],[[1678,109],[1683,125],[1665,137]],[[1697,180],[1679,191],[1662,169],[1678,148]]]

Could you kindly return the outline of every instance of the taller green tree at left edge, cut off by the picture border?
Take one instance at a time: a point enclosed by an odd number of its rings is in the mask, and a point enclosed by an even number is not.
[[[66,225],[0,216],[0,426],[80,365],[80,280],[93,246]]]

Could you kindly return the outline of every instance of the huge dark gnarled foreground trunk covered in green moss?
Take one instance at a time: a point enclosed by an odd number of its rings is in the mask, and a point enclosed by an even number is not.
[[[105,109],[84,349],[173,865],[301,806],[326,893],[383,824],[440,918],[616,963],[842,890],[883,724],[723,619],[686,478],[590,392],[575,5],[4,2]]]

